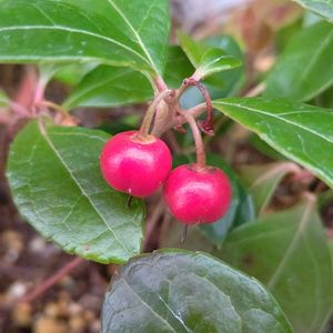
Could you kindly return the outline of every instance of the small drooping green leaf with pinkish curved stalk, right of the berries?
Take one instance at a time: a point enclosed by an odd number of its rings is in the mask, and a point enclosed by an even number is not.
[[[261,215],[270,203],[279,183],[290,173],[301,169],[289,162],[278,162],[264,165],[245,165],[240,170],[241,180],[252,194],[255,211]]]

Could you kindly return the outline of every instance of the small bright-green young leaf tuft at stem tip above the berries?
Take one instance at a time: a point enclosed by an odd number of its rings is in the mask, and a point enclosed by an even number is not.
[[[241,65],[239,59],[229,56],[220,48],[211,48],[196,42],[183,32],[179,32],[178,38],[182,49],[196,68],[194,77],[198,80]]]

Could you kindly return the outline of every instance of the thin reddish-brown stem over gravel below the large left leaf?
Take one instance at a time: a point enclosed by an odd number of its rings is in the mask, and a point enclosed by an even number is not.
[[[62,278],[68,275],[71,271],[73,271],[77,266],[82,264],[84,261],[82,258],[77,256],[68,264],[65,264],[62,269],[60,269],[53,276],[46,280],[42,284],[37,286],[34,290],[29,292],[27,295],[19,299],[16,303],[31,303],[42,294],[44,294],[50,287],[57,284]]]

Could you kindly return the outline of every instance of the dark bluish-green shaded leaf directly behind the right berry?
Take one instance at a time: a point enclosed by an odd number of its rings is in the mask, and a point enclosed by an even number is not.
[[[208,164],[220,168],[228,175],[231,188],[232,199],[228,213],[212,224],[200,225],[199,229],[205,234],[215,245],[220,246],[224,241],[228,232],[236,226],[255,219],[252,198],[241,185],[235,172],[232,168],[219,155],[209,154]],[[175,167],[185,163],[194,163],[194,155],[182,155],[173,159]],[[196,250],[200,250],[196,248]]]

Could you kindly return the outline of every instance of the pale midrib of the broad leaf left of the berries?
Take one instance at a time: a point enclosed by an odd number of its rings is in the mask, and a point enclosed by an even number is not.
[[[93,210],[97,212],[97,214],[99,215],[99,218],[101,219],[101,221],[105,224],[105,226],[108,228],[108,230],[111,232],[111,234],[113,235],[113,239],[120,244],[121,248],[123,248],[123,250],[125,250],[125,252],[128,253],[128,255],[131,258],[134,255],[134,253],[132,251],[130,251],[124,244],[123,242],[121,242],[118,236],[115,235],[114,231],[110,228],[110,225],[107,223],[107,221],[104,220],[104,218],[100,214],[100,212],[98,211],[98,209],[95,208],[94,203],[91,201],[91,199],[89,198],[89,195],[85,193],[85,191],[81,188],[80,183],[77,181],[77,179],[74,178],[74,175],[72,174],[71,170],[67,167],[65,162],[63,161],[62,157],[58,153],[57,148],[54,147],[53,142],[51,141],[51,139],[48,137],[47,131],[43,128],[40,128],[40,133],[41,135],[44,138],[46,143],[48,143],[48,145],[50,147],[50,149],[53,151],[54,155],[58,158],[58,160],[60,161],[61,165],[64,168],[64,170],[69,173],[70,178],[73,180],[73,182],[75,183],[75,185],[79,188],[79,190],[81,191],[81,193],[87,198],[87,200],[89,201],[89,203],[91,204],[91,206],[93,208]]]

